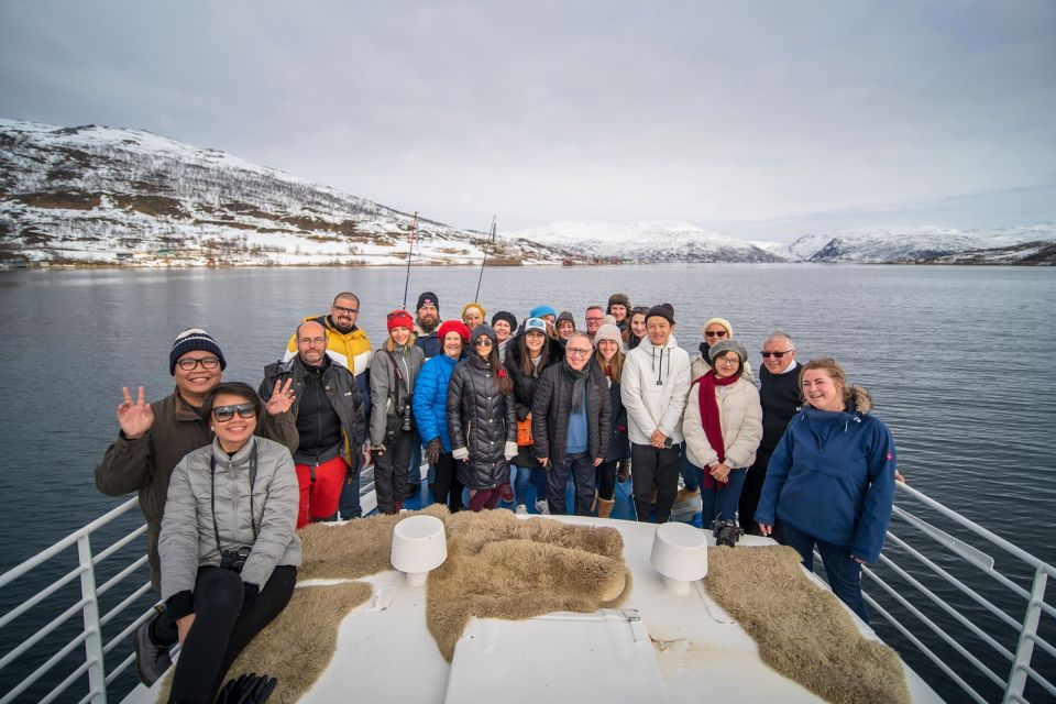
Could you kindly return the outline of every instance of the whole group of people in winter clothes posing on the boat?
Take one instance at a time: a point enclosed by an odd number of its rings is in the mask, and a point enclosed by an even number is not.
[[[475,301],[442,320],[426,292],[414,315],[387,315],[376,349],[359,314],[344,292],[305,318],[257,389],[221,382],[227,362],[201,329],[173,343],[170,395],[147,405],[143,387],[123,389],[96,484],[140,494],[164,608],[135,632],[138,664],[153,682],[183,644],[170,701],[212,701],[288,602],[298,528],[361,515],[364,449],[383,514],[420,494],[422,458],[452,512],[564,514],[571,481],[576,514],[609,517],[629,474],[637,519],[664,522],[698,491],[718,544],[773,534],[809,566],[816,546],[834,592],[868,619],[859,565],[883,542],[894,444],[834,360],[800,364],[774,332],[757,387],[727,320],[704,324],[691,359],[673,306],[624,294],[587,307],[579,329],[547,305],[519,324]]]

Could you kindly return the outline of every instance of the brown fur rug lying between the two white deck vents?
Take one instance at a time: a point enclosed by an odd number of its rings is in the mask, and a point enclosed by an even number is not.
[[[520,520],[504,510],[448,518],[448,559],[429,574],[426,624],[449,662],[470,617],[521,619],[614,608],[630,595],[615,528]]]

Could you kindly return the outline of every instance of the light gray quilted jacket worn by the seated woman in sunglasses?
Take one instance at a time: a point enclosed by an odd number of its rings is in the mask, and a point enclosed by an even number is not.
[[[254,448],[256,476],[251,514],[250,460]],[[180,601],[189,604],[198,568],[220,566],[217,532],[223,550],[251,548],[241,573],[246,584],[261,588],[276,565],[298,566],[300,540],[294,526],[299,496],[289,450],[277,442],[251,439],[234,455],[228,455],[215,440],[185,457],[173,471],[162,518],[162,598],[168,601],[185,593]]]

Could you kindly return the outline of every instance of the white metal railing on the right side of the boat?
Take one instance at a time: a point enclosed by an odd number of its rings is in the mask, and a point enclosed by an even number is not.
[[[1048,697],[1056,700],[1056,685],[1034,667],[1036,648],[1041,651],[1038,657],[1046,659],[1047,671],[1056,669],[1056,648],[1038,632],[1043,616],[1056,618],[1056,609],[1045,602],[1047,581],[1056,576],[1056,569],[917,490],[902,483],[897,486],[899,501],[884,553],[876,568],[862,570],[880,587],[888,607],[869,594],[865,595],[866,602],[971,700],[994,701],[979,691],[980,685],[989,683],[987,686],[993,692],[1000,688],[1002,702],[1026,702],[1024,691],[1028,682],[1033,682],[1047,701],[1053,701]],[[914,512],[928,512],[938,520],[953,521],[949,530],[986,540],[988,550],[1003,550],[1002,559],[1011,558],[1012,564],[998,571],[991,554],[911,513],[905,506],[911,503]],[[932,551],[928,557],[895,530],[915,531],[947,552]],[[961,576],[943,566],[939,563],[943,561],[955,566]],[[976,572],[992,582],[965,579]],[[1030,580],[1030,588],[1018,584],[1005,572],[1019,573],[1021,581]],[[904,610],[902,618],[893,613],[895,605]],[[1019,617],[1010,612],[1018,613]],[[911,620],[910,617],[915,619],[913,628],[903,623]],[[1048,626],[1054,625],[1056,622],[1048,622]],[[936,652],[938,649],[944,650],[946,657]]]

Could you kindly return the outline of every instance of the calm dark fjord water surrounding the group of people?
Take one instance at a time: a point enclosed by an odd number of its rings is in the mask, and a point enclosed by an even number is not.
[[[457,317],[476,270],[419,268],[410,301],[433,290]],[[399,307],[400,270],[13,272],[0,275],[0,571],[122,499],[100,496],[92,470],[112,441],[121,386],[150,399],[172,391],[167,355],[179,330],[207,328],[229,366],[254,386],[301,317],[333,295],[362,298],[361,326],[384,338]],[[1056,272],[1016,267],[686,265],[499,268],[484,276],[488,314],[521,318],[538,304],[572,310],[612,292],[635,305],[674,304],[675,334],[695,350],[712,316],[751,352],[772,330],[801,359],[833,355],[870,389],[899,464],[933,498],[1047,562],[1056,562]],[[1018,617],[1019,618],[1019,617]],[[996,666],[998,672],[1007,667]]]

